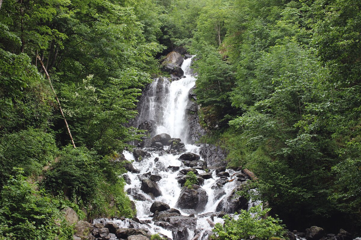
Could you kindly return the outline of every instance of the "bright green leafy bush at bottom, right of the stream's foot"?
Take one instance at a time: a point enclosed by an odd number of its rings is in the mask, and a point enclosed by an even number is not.
[[[249,212],[242,210],[238,219],[229,215],[223,217],[223,226],[216,223],[213,232],[216,239],[238,240],[238,239],[269,239],[270,237],[282,237],[285,230],[281,220],[271,216],[266,217],[270,209],[261,209],[261,205],[252,207]]]

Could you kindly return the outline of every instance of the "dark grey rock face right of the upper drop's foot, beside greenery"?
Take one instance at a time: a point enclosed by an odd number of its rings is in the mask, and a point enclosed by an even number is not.
[[[202,144],[199,154],[212,167],[227,166],[227,152],[213,144]]]

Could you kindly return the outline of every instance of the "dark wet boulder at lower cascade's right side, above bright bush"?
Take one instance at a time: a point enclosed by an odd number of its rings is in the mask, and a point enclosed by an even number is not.
[[[221,202],[219,202],[216,211],[235,213],[235,212],[239,212],[241,209],[247,210],[248,200],[244,196],[240,196],[237,194],[237,192],[239,192],[242,189],[243,189],[242,186],[235,187],[232,190],[232,193],[227,198],[224,198]]]

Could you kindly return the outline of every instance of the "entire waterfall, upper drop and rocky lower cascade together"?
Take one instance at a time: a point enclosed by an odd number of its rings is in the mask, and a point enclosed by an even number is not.
[[[200,156],[199,145],[191,144],[186,119],[189,91],[195,85],[191,61],[192,58],[184,60],[184,76],[179,80],[156,79],[141,101],[138,119],[152,121],[156,136],[148,140],[145,148],[123,152],[125,159],[132,162],[123,177],[125,190],[136,206],[136,218],[99,218],[93,222],[113,222],[123,229],[118,230],[122,232],[116,236],[118,239],[126,239],[125,232],[132,229],[131,235],[206,240],[214,224],[223,223],[225,214],[259,204],[236,194],[247,183],[247,175],[208,166]],[[190,171],[197,176],[196,184],[184,187]]]

